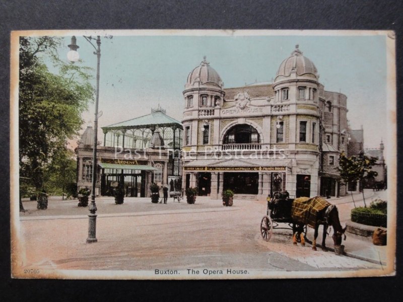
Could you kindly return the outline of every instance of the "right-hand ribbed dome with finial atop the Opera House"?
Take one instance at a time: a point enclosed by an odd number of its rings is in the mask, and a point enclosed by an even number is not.
[[[296,71],[297,75],[303,75],[306,73],[312,73],[315,77],[318,77],[318,70],[310,59],[302,55],[302,51],[298,49],[298,44],[295,45],[295,50],[291,53],[291,56],[285,59],[279,67],[276,73],[276,77],[282,75],[288,77],[292,71]]]

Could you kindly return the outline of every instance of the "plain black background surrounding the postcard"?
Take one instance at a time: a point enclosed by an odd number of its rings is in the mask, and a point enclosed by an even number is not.
[[[35,29],[363,29],[394,30],[397,112],[402,116],[400,1],[7,1],[0,0],[0,299],[395,301],[401,278],[401,222],[396,277],[220,281],[95,281],[11,279],[10,271],[10,32]],[[384,100],[380,100],[384,102]],[[397,118],[398,133],[402,121]],[[398,135],[398,152],[402,137]],[[398,156],[397,162],[400,161]],[[401,169],[398,169],[398,180]],[[398,182],[399,183],[399,182]],[[398,186],[398,220],[402,189]],[[124,232],[124,230],[122,230]],[[400,273],[399,273],[400,272]],[[400,285],[400,286],[399,286]]]

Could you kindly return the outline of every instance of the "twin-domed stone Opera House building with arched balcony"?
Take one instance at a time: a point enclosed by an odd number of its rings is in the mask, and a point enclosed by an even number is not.
[[[324,90],[298,45],[273,83],[224,89],[205,58],[183,96],[183,188],[212,198],[227,188],[261,199],[346,193],[335,167],[349,144],[347,97]]]

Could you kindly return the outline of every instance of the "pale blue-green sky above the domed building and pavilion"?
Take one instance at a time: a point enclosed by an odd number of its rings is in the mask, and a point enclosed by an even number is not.
[[[364,128],[364,146],[379,147],[385,140],[386,36],[328,35],[130,35],[114,32],[101,37],[100,127],[146,115],[160,104],[167,114],[182,118],[182,91],[189,72],[207,56],[224,88],[272,81],[281,62],[299,44],[316,66],[325,90],[347,96],[348,119],[353,129]],[[93,67],[96,55],[76,34],[82,64]],[[67,60],[71,35],[64,37],[60,56]],[[94,105],[83,115],[85,127],[94,120]]]

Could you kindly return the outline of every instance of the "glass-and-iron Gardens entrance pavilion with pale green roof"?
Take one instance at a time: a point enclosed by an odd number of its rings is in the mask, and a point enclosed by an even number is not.
[[[96,195],[112,195],[119,182],[126,196],[150,196],[150,184],[176,186],[180,192],[180,147],[183,133],[179,121],[160,106],[151,114],[102,127],[103,143],[97,147]],[[75,149],[77,187],[92,187],[94,129],[88,126]],[[172,191],[171,190],[171,191]]]

